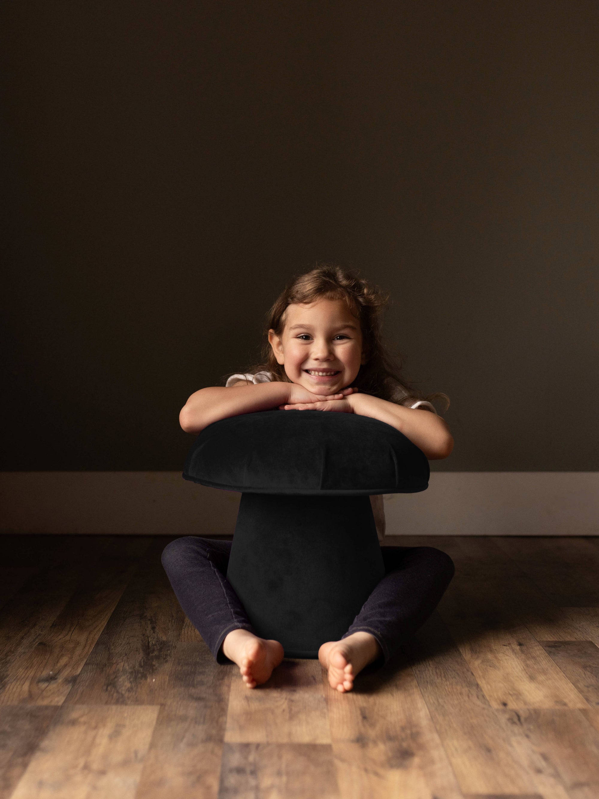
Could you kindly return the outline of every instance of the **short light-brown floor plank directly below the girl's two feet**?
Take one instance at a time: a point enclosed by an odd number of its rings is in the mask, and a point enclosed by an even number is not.
[[[317,660],[284,660],[264,686],[245,687],[233,675],[227,743],[330,744],[322,667]]]

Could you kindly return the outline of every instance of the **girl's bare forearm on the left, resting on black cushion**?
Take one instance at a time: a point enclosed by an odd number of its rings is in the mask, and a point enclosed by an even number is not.
[[[235,388],[200,388],[189,397],[179,414],[179,423],[186,433],[199,433],[212,422],[239,416],[242,413],[268,411],[289,398],[287,383],[259,383]]]

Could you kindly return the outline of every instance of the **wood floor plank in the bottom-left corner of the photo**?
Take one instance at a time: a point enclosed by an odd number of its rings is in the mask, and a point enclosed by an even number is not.
[[[0,799],[9,799],[46,735],[55,707],[0,708]]]

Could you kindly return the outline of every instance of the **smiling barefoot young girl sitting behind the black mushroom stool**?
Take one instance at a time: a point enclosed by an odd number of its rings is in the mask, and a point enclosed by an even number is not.
[[[180,411],[197,435],[228,416],[279,408],[371,416],[406,435],[428,459],[446,458],[453,439],[429,400],[416,396],[386,352],[380,331],[385,298],[338,266],[320,266],[293,280],[272,306],[264,363],[233,375],[224,388],[202,388]],[[435,396],[444,395],[434,395]],[[380,497],[371,498],[379,539]],[[217,662],[233,661],[248,688],[266,682],[284,658],[277,641],[258,638],[225,574],[232,544],[177,539],[162,562],[177,598]],[[344,692],[356,674],[387,662],[432,613],[454,574],[431,547],[382,547],[385,576],[340,641],[323,643],[319,661],[331,686]]]

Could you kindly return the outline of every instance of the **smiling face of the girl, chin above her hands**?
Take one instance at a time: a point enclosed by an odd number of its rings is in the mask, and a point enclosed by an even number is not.
[[[268,341],[289,380],[314,394],[351,386],[365,363],[359,320],[343,300],[288,305],[281,336]]]

